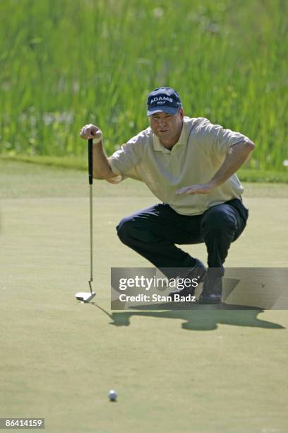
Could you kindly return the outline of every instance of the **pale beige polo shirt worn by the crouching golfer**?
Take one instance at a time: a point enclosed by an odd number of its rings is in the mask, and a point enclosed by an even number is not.
[[[244,188],[236,174],[208,195],[176,195],[176,191],[207,183],[222,165],[229,147],[247,140],[243,134],[212,125],[204,117],[184,117],[179,140],[169,150],[148,127],[109,158],[113,173],[119,176],[110,181],[140,180],[179,214],[203,214],[215,204],[241,197]]]

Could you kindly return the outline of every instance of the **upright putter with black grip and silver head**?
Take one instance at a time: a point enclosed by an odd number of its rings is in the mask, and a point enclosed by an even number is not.
[[[93,183],[93,140],[88,139],[88,174],[89,174],[89,192],[90,192],[90,280],[88,281],[89,291],[80,291],[76,293],[78,301],[89,302],[95,296],[95,291],[92,291],[93,281],[93,207],[92,207],[92,183]]]

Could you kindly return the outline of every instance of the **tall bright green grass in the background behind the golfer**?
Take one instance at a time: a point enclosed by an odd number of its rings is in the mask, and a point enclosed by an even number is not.
[[[0,1],[0,151],[80,156],[91,122],[112,153],[167,85],[186,115],[253,139],[253,168],[287,169],[287,4]]]

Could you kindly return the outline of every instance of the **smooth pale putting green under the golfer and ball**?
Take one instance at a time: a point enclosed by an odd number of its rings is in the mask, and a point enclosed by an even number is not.
[[[97,297],[76,301],[90,274],[87,184],[0,161],[0,417],[44,417],[52,433],[287,432],[287,311],[110,311],[110,267],[149,265],[115,232],[155,202],[145,185],[95,182]],[[286,267],[288,185],[245,197],[227,266]]]

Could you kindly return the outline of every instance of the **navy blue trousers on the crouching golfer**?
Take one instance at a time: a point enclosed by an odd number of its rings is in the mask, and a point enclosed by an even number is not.
[[[116,227],[120,240],[157,268],[193,267],[196,260],[175,243],[205,242],[208,267],[224,275],[230,244],[246,226],[248,209],[241,200],[210,207],[201,215],[177,214],[169,204],[155,204],[122,219]],[[208,270],[209,271],[209,270]]]

